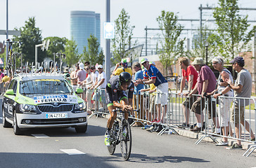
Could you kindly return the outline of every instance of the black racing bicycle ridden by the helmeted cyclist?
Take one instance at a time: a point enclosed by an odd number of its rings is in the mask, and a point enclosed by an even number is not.
[[[115,147],[120,144],[122,158],[128,160],[132,150],[132,132],[128,120],[125,120],[122,109],[113,110],[117,113],[117,118],[110,130],[110,146],[108,152],[110,155],[115,153]]]

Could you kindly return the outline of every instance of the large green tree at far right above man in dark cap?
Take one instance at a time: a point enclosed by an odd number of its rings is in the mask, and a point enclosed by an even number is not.
[[[239,14],[238,0],[219,0],[219,7],[213,12],[217,24],[217,34],[210,38],[215,41],[217,54],[233,59],[238,52],[248,47],[255,29],[248,30],[248,15]]]

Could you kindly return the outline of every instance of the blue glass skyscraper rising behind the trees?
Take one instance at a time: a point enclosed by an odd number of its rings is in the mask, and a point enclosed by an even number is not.
[[[101,43],[101,14],[93,11],[71,11],[70,35],[77,43],[79,54],[88,45],[87,38],[91,34]]]

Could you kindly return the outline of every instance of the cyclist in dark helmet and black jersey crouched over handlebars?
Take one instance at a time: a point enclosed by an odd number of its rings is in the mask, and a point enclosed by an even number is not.
[[[128,97],[125,92],[126,90],[129,90]],[[117,113],[113,112],[113,109],[118,107],[122,111],[132,111],[133,92],[134,83],[132,82],[132,76],[128,72],[122,72],[119,76],[113,76],[108,81],[105,94],[110,118],[108,118],[107,130],[105,132],[106,146],[110,146],[110,130],[117,117]],[[124,118],[128,120],[128,113],[124,113]]]

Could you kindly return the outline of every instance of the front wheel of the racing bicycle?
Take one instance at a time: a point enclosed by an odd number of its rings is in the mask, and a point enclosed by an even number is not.
[[[128,160],[132,151],[132,132],[128,120],[123,120],[121,134],[121,153],[124,160]]]

